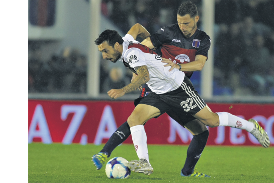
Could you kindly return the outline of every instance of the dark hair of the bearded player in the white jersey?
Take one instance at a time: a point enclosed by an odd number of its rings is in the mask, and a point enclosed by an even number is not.
[[[96,45],[99,45],[99,44],[103,43],[104,41],[107,41],[108,44],[112,47],[114,47],[114,44],[116,42],[118,42],[120,45],[123,44],[123,42],[124,42],[124,40],[118,34],[117,31],[109,30],[109,29],[102,32],[94,42]]]

